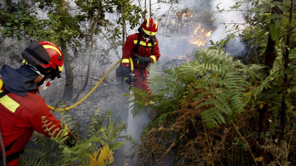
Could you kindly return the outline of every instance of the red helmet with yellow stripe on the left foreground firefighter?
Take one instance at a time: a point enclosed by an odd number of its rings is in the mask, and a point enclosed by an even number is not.
[[[40,41],[39,42],[47,51],[50,56],[50,61],[48,64],[41,64],[42,67],[48,68],[51,67],[53,69],[58,68],[60,72],[63,71],[63,54],[57,45],[50,41]]]

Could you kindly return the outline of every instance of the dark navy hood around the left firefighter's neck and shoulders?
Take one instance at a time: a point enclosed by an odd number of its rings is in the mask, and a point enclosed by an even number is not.
[[[29,65],[22,65],[18,69],[4,65],[0,69],[0,74],[4,88],[12,93],[25,96],[28,91],[37,89],[34,80],[39,74],[32,70]]]

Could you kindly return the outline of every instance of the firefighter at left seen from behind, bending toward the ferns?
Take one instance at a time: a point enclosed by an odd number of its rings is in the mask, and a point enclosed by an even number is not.
[[[17,166],[17,159],[28,144],[33,131],[51,137],[42,127],[43,116],[52,122],[52,131],[60,127],[60,121],[49,111],[44,99],[36,94],[39,89],[46,89],[55,77],[60,77],[63,65],[61,50],[52,42],[33,41],[22,51],[23,65],[12,69],[4,65],[1,70],[3,87],[0,98],[0,129],[5,147],[8,166]],[[3,152],[1,152],[1,162]],[[1,164],[0,164],[1,165]]]

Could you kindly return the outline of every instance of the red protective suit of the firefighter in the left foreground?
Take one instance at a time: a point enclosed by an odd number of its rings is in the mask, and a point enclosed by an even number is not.
[[[1,90],[4,91],[5,89],[2,88]],[[45,128],[42,127],[44,125],[42,116],[46,116],[47,124],[52,122],[49,128],[55,125],[51,132],[56,128],[61,128],[60,121],[49,111],[44,99],[37,95],[36,91],[27,92],[24,97],[9,93],[0,98],[0,115],[0,129],[4,146],[12,145],[6,151],[6,156],[24,149],[34,130],[50,137],[49,133],[45,132]],[[0,149],[0,153],[2,153],[2,149]],[[7,163],[7,166],[16,165],[18,165],[17,158]]]

